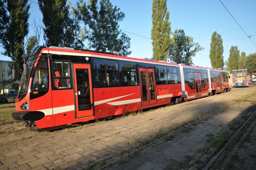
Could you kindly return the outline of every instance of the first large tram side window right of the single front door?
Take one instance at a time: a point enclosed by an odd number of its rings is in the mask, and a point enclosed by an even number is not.
[[[96,88],[119,87],[117,61],[93,59],[93,75]]]

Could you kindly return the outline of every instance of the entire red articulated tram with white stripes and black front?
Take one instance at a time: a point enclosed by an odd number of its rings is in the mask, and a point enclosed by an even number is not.
[[[226,71],[66,47],[37,47],[24,70],[12,117],[36,132],[229,89]]]

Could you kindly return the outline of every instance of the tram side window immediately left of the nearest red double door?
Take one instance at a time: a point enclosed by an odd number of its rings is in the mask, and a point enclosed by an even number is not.
[[[118,67],[121,87],[138,85],[135,62],[118,61]]]

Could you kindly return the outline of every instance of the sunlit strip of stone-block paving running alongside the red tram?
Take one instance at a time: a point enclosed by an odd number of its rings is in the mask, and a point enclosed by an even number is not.
[[[29,132],[22,122],[1,125],[0,169],[98,169],[116,159],[121,160],[123,154],[134,151],[131,148],[142,144],[149,136],[182,127],[219,109],[230,109],[229,106],[237,105],[234,100],[255,90],[256,87],[234,88],[227,93],[178,105],[53,132]],[[236,108],[239,113],[249,107],[249,104],[241,105],[244,107],[237,105]],[[219,124],[228,126],[228,123]]]

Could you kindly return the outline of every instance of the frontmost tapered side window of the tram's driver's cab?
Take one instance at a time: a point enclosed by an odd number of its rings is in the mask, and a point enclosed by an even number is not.
[[[45,90],[49,88],[49,71],[47,64],[47,57],[42,57],[36,68],[33,75],[31,90]]]

